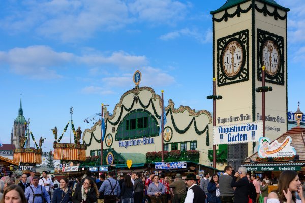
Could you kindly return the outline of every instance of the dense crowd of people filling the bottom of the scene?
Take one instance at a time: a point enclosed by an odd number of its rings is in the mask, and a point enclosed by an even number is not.
[[[116,178],[109,172],[106,178],[87,171],[83,177],[58,182],[47,171],[39,178],[32,170],[30,176],[1,178],[0,203],[305,203],[305,186],[295,171],[283,171],[278,179],[272,177],[278,189],[269,194],[271,181],[267,177],[260,180],[245,167],[232,173],[232,167],[226,166],[221,176],[176,174],[171,180],[163,173],[121,174]]]

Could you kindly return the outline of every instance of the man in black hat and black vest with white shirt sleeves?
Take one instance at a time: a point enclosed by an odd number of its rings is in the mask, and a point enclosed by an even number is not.
[[[195,174],[188,174],[186,182],[188,192],[184,203],[202,203],[205,200],[204,191],[196,184],[197,178]]]

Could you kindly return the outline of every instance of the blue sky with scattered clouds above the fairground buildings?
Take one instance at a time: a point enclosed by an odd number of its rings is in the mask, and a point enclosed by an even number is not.
[[[288,7],[288,109],[305,111],[305,3]],[[100,112],[113,111],[120,96],[140,86],[164,90],[165,105],[212,111],[212,16],[225,0],[3,1],[0,4],[2,143],[10,143],[20,92],[26,119],[44,151],[61,134],[74,107],[75,127]],[[70,130],[63,142],[70,141]]]

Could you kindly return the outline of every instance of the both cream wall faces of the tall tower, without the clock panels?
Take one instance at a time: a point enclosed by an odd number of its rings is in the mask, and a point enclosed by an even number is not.
[[[257,6],[259,8],[263,7],[263,4],[255,1]],[[246,9],[251,4],[251,1],[248,1],[246,3],[241,4],[242,9]],[[268,10],[270,12],[273,12],[274,8],[271,6],[267,6]],[[228,13],[232,14],[236,10],[236,7],[233,7],[231,9],[228,9]],[[281,11],[278,9],[278,13],[281,16],[285,15],[284,11]],[[223,12],[217,13],[214,15],[215,18],[221,18],[224,14]],[[222,87],[217,87],[217,94],[222,95],[223,99],[217,100],[216,103],[216,125],[226,125],[226,124],[233,124],[233,123],[242,123],[245,121],[239,121],[239,122],[230,122],[230,123],[220,123],[218,122],[218,118],[227,118],[230,116],[233,117],[240,117],[240,114],[248,114],[251,117],[251,120],[248,120],[247,122],[252,121],[252,63],[255,63],[255,67],[257,66],[257,41],[252,43],[252,14],[251,10],[245,14],[241,13],[240,17],[237,17],[237,15],[234,18],[228,18],[228,21],[222,21],[220,23],[214,22],[214,74],[217,79],[217,39],[231,35],[232,33],[248,29],[249,30],[249,80],[245,82],[240,82],[236,84],[230,84]],[[264,16],[263,13],[259,13],[255,11],[255,39],[257,38],[257,28],[271,32],[276,33],[277,35],[284,37],[284,61],[287,61],[286,56],[286,21],[285,20],[275,20],[274,16]],[[255,61],[252,61],[251,51],[252,51],[252,45],[255,46]],[[246,64],[245,64],[246,65]],[[286,69],[286,63],[284,62],[284,69]],[[286,71],[284,70],[284,73],[286,74]],[[257,74],[257,71],[255,71],[255,74]],[[273,91],[267,92],[266,95],[266,113],[265,115],[271,115],[271,116],[279,116],[280,118],[285,119],[285,123],[275,123],[275,122],[266,122],[266,126],[275,126],[276,128],[280,128],[278,132],[272,131],[272,130],[266,130],[265,134],[266,136],[270,137],[271,140],[274,140],[281,134],[285,133],[287,130],[286,125],[286,116],[287,116],[287,94],[286,94],[286,75],[284,76],[285,85],[275,85],[266,83],[266,86],[272,86]],[[217,82],[217,81],[216,81]],[[255,88],[261,86],[261,81],[257,80],[257,75],[255,75]],[[261,93],[255,93],[255,120],[257,119],[257,113],[261,115]],[[252,143],[248,144],[248,154],[252,154]]]

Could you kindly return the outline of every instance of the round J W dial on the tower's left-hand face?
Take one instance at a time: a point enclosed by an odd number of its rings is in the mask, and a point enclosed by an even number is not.
[[[222,69],[227,77],[232,78],[236,76],[241,70],[242,62],[244,60],[243,47],[237,41],[232,41],[227,44],[225,50],[222,52]]]

